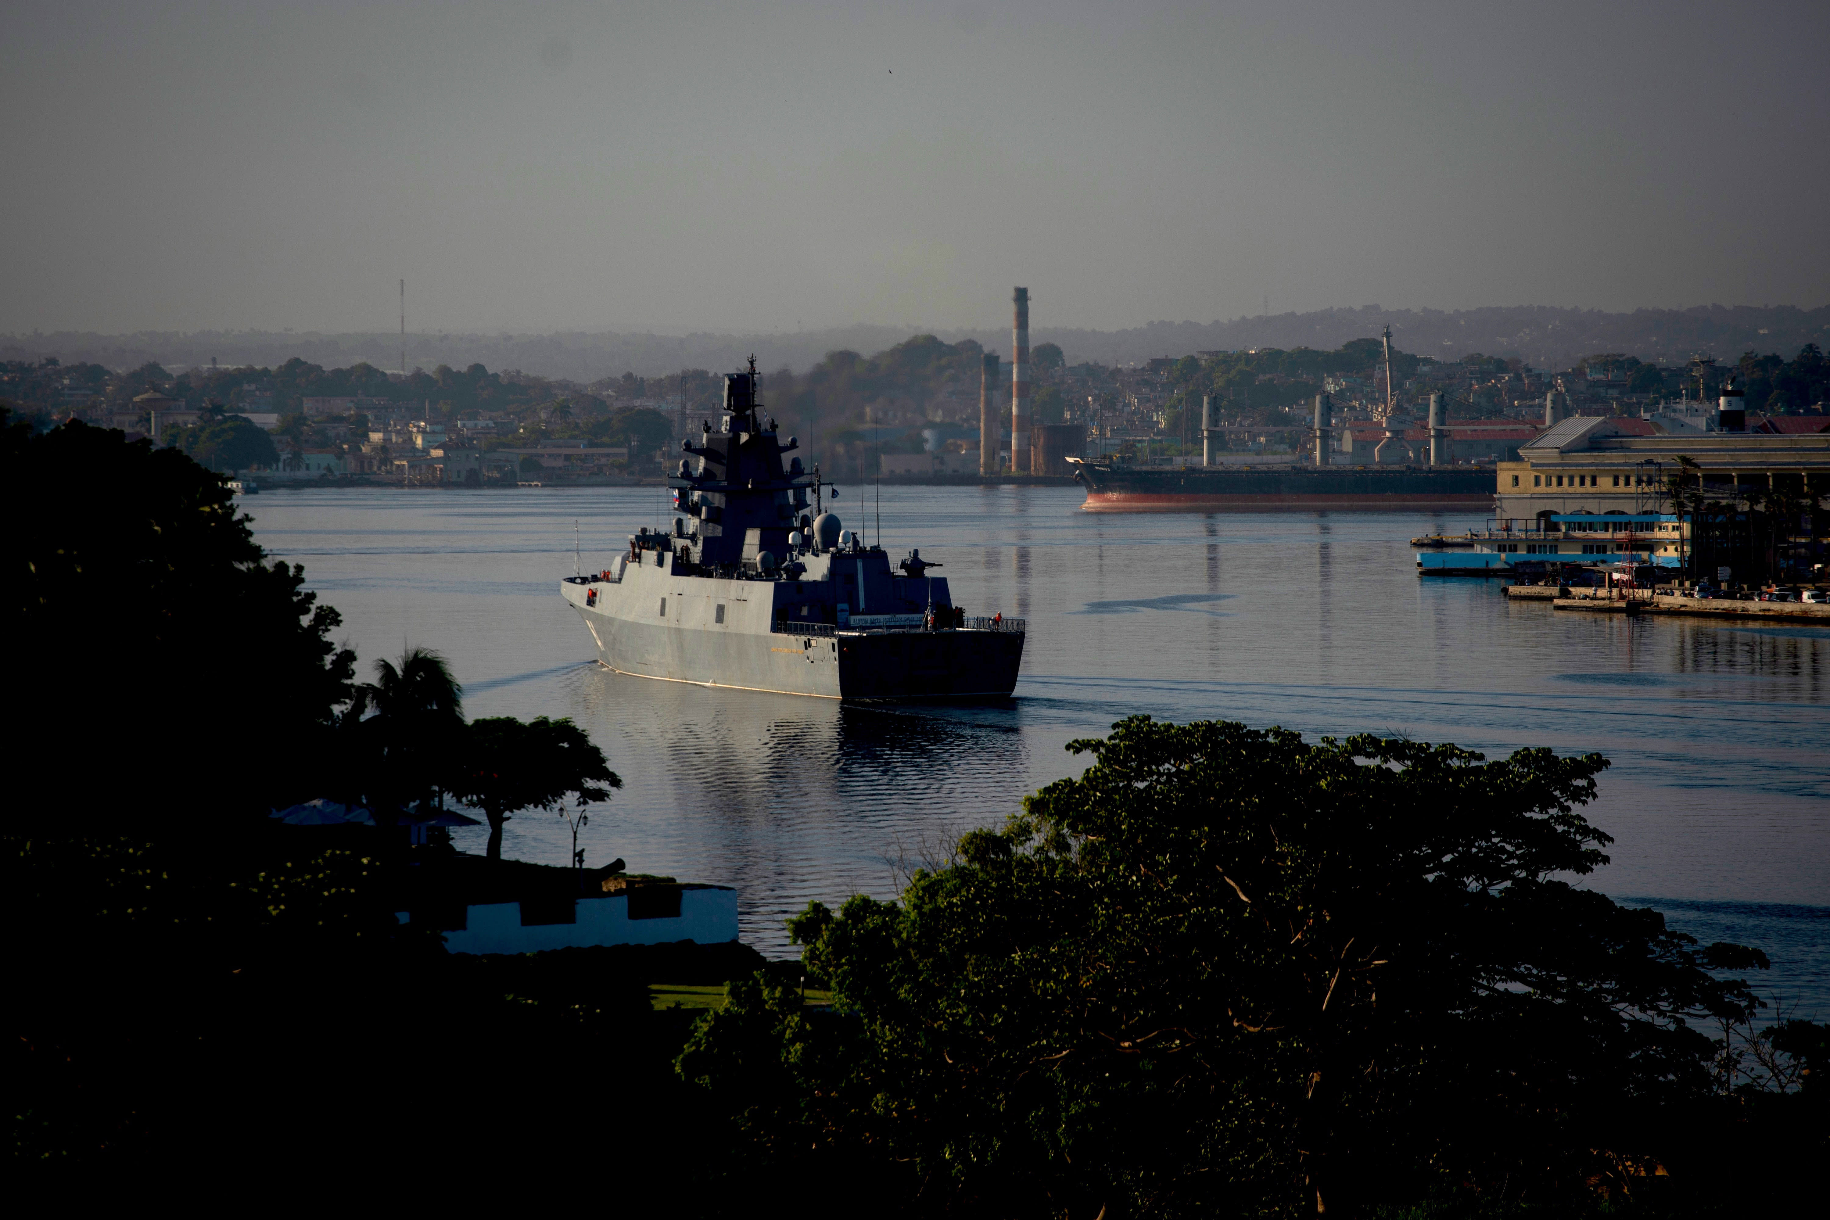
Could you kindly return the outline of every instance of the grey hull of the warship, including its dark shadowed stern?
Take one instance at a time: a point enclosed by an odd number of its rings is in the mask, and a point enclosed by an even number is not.
[[[560,591],[604,666],[668,682],[820,699],[985,699],[1010,695],[1023,658],[1021,624],[778,629],[778,607],[803,600],[794,582],[675,574],[642,563],[619,580],[564,582]]]

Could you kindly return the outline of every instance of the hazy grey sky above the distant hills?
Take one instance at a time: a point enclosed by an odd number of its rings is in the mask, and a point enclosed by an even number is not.
[[[5,5],[0,331],[1830,298],[1830,4]]]

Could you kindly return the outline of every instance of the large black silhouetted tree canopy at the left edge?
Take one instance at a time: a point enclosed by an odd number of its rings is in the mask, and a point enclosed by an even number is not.
[[[221,476],[121,432],[5,417],[0,483],[9,744],[42,761],[15,774],[11,819],[165,829],[318,796],[304,761],[355,658],[304,569],[267,563]],[[106,792],[51,765],[79,757]]]

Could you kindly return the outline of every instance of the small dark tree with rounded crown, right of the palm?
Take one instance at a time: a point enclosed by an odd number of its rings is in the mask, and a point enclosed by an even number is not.
[[[501,858],[501,827],[522,808],[553,808],[567,796],[608,801],[622,777],[569,719],[472,721],[448,772],[448,790],[489,818],[489,858]]]

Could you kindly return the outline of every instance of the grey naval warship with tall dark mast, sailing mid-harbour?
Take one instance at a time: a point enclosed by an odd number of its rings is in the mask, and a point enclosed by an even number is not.
[[[567,576],[597,655],[619,673],[825,699],[1008,697],[1027,624],[968,616],[941,567],[897,565],[825,501],[794,437],[756,395],[756,359],[725,377],[719,424],[681,441],[672,532],[630,536],[600,573]]]

